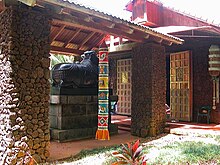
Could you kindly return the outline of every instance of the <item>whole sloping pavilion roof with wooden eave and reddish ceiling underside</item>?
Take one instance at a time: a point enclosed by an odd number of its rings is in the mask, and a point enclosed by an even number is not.
[[[132,42],[156,42],[163,45],[182,44],[183,40],[162,34],[149,27],[134,24],[112,15],[62,0],[9,0],[26,4],[49,14],[51,18],[51,52],[80,55],[98,48],[108,35]],[[7,1],[7,2],[9,2]],[[0,0],[0,2],[4,2]],[[0,6],[7,6],[2,4]]]

